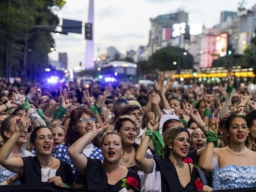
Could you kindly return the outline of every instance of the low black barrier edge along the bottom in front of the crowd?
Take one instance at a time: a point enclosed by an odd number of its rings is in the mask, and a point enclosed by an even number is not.
[[[85,191],[83,189],[78,188],[63,188],[56,185],[48,185],[48,184],[36,184],[36,185],[2,185],[0,186],[0,191],[9,192],[9,191],[19,191],[19,192],[79,192]],[[217,190],[213,192],[241,192],[241,191],[252,191],[256,192],[256,188],[239,188],[239,189],[232,189],[232,190]],[[96,192],[96,191],[87,191],[87,192]],[[97,191],[101,192],[101,191]],[[164,192],[164,191],[163,191]]]

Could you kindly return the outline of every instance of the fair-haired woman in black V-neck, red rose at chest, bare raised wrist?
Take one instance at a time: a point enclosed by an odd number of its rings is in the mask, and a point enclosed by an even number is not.
[[[94,123],[92,130],[75,141],[68,150],[75,168],[85,177],[85,188],[88,191],[120,191],[125,187],[127,190],[139,191],[140,179],[137,173],[119,163],[124,149],[122,138],[118,133],[111,131],[102,136],[103,162],[82,154],[85,146],[105,127],[106,125],[103,126],[102,123]]]

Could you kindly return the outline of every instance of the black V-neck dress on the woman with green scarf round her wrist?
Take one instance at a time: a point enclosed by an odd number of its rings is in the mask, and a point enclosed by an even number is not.
[[[194,181],[199,178],[199,174],[197,169],[193,169],[192,172],[190,171],[190,182],[187,183],[185,187],[181,185],[179,182],[179,177],[177,175],[176,169],[173,163],[169,160],[168,157],[161,158],[156,157],[154,158],[156,162],[156,170],[161,172],[161,187],[162,191],[171,191],[171,192],[184,192],[184,191],[197,191],[195,188]],[[190,169],[190,165],[189,165]]]

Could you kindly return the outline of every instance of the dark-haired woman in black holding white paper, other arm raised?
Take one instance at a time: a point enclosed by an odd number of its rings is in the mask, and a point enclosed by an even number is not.
[[[7,121],[7,122],[5,122]],[[19,173],[22,184],[54,183],[58,186],[72,184],[72,170],[66,162],[51,156],[53,151],[53,135],[46,126],[34,128],[30,144],[36,151],[35,157],[11,157],[15,143],[23,136],[26,122],[22,117],[5,119],[13,134],[0,149],[0,164],[12,172]]]

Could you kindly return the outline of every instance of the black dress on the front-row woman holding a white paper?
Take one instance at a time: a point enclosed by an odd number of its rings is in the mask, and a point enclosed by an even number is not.
[[[37,157],[23,157],[23,175],[19,175],[22,184],[38,184],[41,182],[41,165]],[[61,161],[61,160],[60,160]],[[62,182],[67,185],[73,184],[73,174],[70,165],[67,162],[61,161],[59,169],[56,171],[56,176],[62,178]]]

